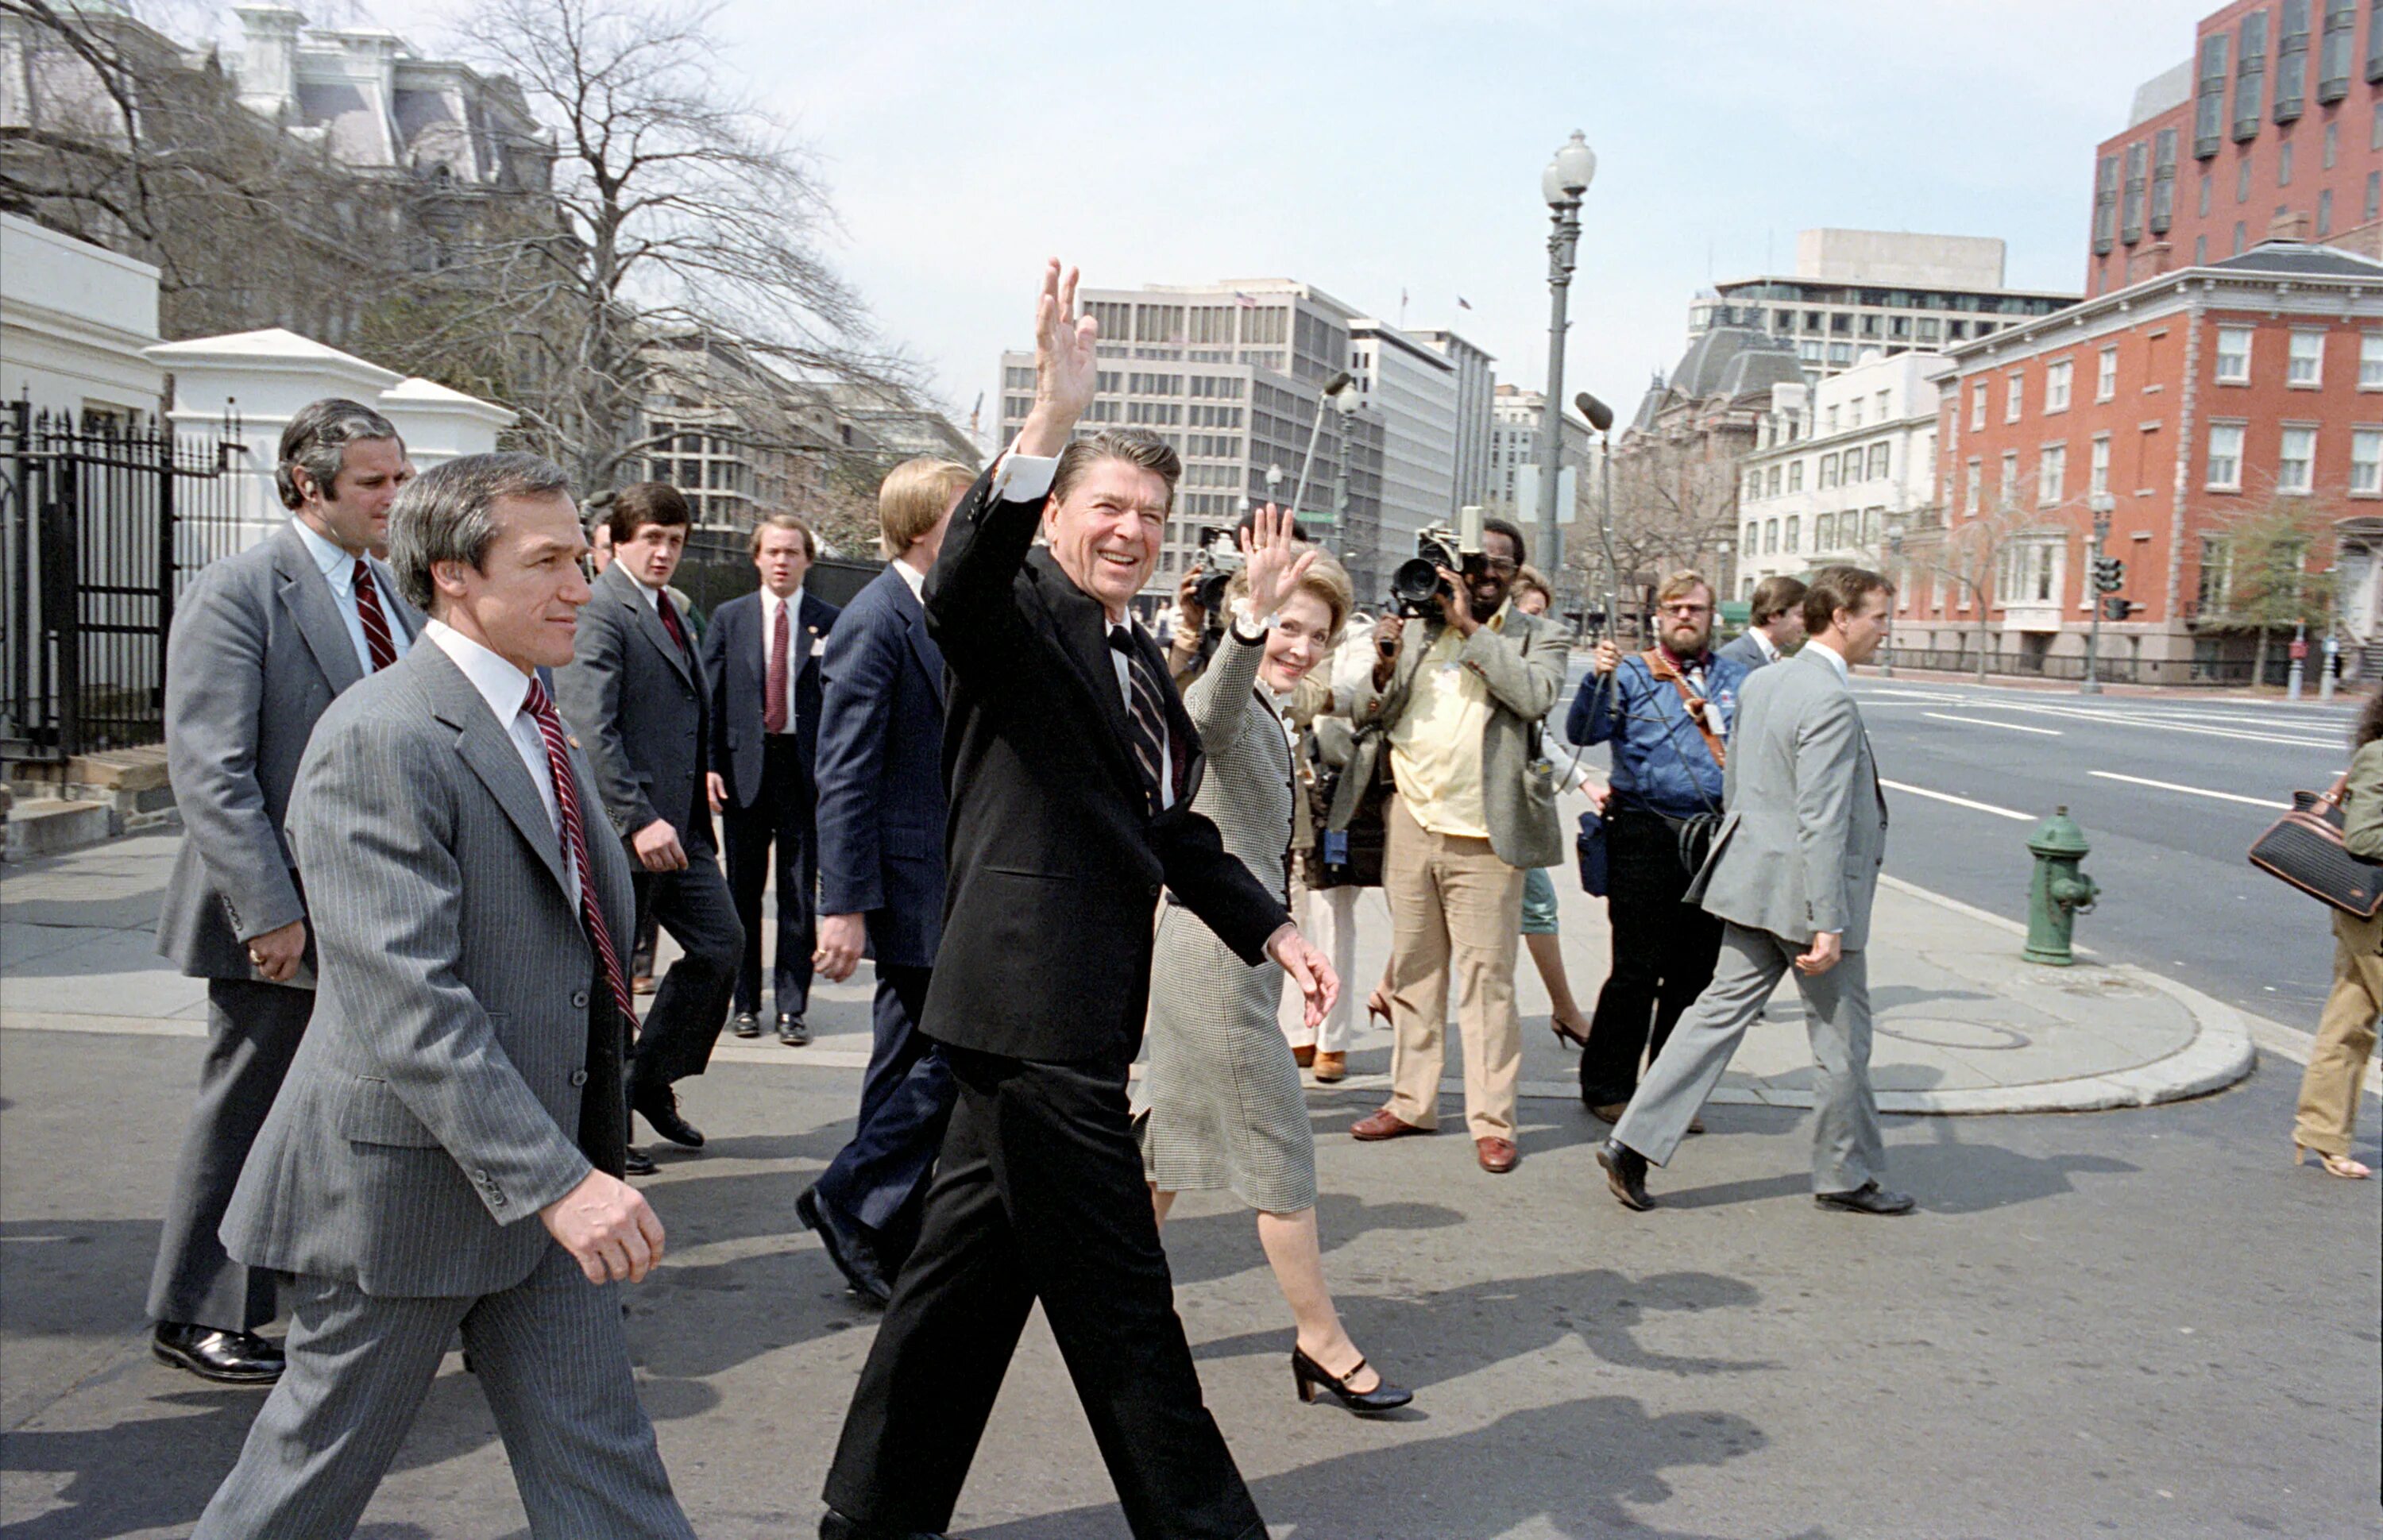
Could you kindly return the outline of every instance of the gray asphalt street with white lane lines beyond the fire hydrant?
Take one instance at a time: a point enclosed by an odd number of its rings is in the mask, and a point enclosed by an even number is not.
[[[2350,763],[2354,701],[2090,698],[1875,670],[1856,694],[1887,782],[1887,873],[2026,920],[2028,834],[2066,806],[2102,884],[2078,920],[2080,946],[2316,1027],[2333,968],[2328,911],[2245,851],[2295,789],[2323,789]],[[1585,763],[1601,768],[1604,751]]]

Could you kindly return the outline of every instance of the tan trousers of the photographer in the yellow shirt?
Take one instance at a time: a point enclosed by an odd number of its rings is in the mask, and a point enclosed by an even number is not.
[[[1389,899],[1389,1113],[1439,1128],[1439,1068],[1449,1037],[1449,980],[1466,1049],[1466,1125],[1475,1140],[1513,1140],[1523,1075],[1523,1018],[1513,961],[1523,873],[1487,839],[1432,834],[1389,799],[1382,896]],[[1346,989],[1346,985],[1344,985]]]

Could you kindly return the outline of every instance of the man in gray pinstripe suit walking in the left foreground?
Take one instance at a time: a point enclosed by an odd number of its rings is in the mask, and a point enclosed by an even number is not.
[[[629,863],[536,672],[572,658],[584,551],[534,455],[450,460],[391,510],[431,620],[291,794],[315,1018],[222,1230],[295,1275],[288,1368],[203,1540],[348,1535],[458,1328],[531,1535],[693,1535],[620,1325],[662,1256],[620,1180]]]

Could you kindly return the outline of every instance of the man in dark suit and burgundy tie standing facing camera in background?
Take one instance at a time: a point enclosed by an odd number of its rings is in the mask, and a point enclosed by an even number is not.
[[[813,906],[820,846],[813,834],[820,756],[820,653],[836,606],[803,591],[820,555],[810,524],[772,513],[753,524],[760,589],[732,598],[703,632],[703,679],[710,689],[708,784],[727,830],[729,896],[746,930],[736,963],[736,1037],[760,1037],[760,889],[777,851],[777,1039],[810,1042],[810,954],[820,944]]]

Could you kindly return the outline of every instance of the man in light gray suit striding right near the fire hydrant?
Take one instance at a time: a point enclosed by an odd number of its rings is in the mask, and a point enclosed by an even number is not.
[[[1887,796],[1847,665],[1887,634],[1894,586],[1821,567],[1804,594],[1811,641],[1747,677],[1730,734],[1725,813],[1690,899],[1723,920],[1721,965],[1597,1151],[1625,1209],[1651,1209],[1663,1166],[1721,1082],[1737,1042],[1794,968],[1811,1032],[1811,1192],[1823,1209],[1909,1213],[1878,1185],[1887,1156],[1871,1092],[1871,899],[1887,849]]]

